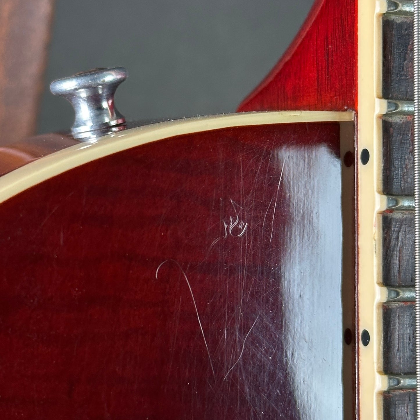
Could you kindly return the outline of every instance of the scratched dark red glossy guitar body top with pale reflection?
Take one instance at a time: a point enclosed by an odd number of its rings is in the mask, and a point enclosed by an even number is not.
[[[339,124],[179,136],[0,207],[0,417],[342,417]]]

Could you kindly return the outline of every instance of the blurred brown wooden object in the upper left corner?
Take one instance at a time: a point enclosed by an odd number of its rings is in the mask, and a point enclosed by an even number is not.
[[[53,4],[0,1],[0,144],[35,133]]]

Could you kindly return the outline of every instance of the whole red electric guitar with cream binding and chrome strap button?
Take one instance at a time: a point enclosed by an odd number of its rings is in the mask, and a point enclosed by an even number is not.
[[[415,418],[412,3],[319,0],[238,112],[123,68],[0,149],[0,417]]]

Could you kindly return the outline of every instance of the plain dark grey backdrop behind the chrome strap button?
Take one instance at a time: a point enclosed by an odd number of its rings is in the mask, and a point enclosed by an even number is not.
[[[38,131],[68,129],[52,80],[124,66],[128,120],[233,112],[286,50],[313,0],[56,0]]]

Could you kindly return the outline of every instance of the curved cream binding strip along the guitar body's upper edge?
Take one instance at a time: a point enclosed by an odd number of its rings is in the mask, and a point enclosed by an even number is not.
[[[181,134],[239,126],[353,121],[352,112],[281,111],[215,115],[151,124],[79,143],[42,157],[0,177],[0,202],[69,169],[141,144]]]

